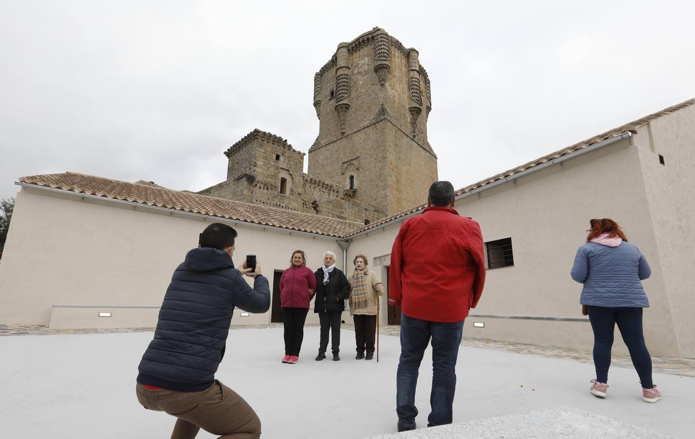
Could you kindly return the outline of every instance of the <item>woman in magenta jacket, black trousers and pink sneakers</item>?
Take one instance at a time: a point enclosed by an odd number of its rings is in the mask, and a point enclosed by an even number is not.
[[[285,328],[285,356],[282,362],[291,365],[300,360],[304,339],[304,321],[309,312],[309,302],[316,294],[316,276],[306,267],[302,250],[292,253],[291,266],[280,278],[280,306]]]

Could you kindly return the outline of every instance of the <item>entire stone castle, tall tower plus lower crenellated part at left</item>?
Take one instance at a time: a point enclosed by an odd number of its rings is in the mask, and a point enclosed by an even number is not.
[[[374,28],[314,76],[309,174],[304,153],[254,129],[224,152],[227,179],[199,193],[365,224],[420,205],[437,179],[430,96],[418,51]]]

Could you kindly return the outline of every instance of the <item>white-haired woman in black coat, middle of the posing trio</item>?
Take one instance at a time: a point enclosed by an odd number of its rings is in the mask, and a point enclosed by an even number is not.
[[[316,301],[313,312],[318,314],[321,324],[321,339],[318,346],[316,361],[326,358],[328,347],[328,331],[331,331],[331,351],[333,361],[340,361],[341,346],[341,316],[345,310],[345,299],[350,295],[350,283],[345,273],[336,268],[336,254],[323,254],[323,265],[316,270]]]

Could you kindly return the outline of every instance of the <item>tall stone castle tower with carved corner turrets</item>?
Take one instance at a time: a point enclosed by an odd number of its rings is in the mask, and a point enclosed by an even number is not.
[[[319,134],[309,174],[387,215],[427,200],[437,179],[427,141],[430,79],[416,49],[375,28],[338,45],[314,76]]]

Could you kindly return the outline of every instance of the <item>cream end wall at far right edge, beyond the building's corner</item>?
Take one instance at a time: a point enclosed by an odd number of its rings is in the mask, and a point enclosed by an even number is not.
[[[635,144],[678,349],[695,358],[695,107],[653,120]]]

